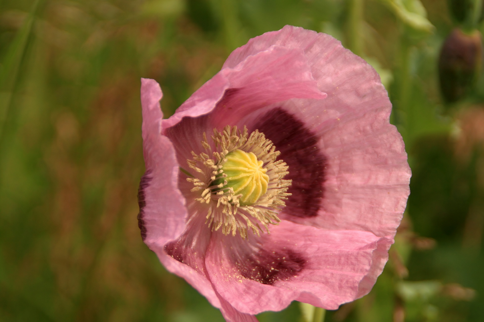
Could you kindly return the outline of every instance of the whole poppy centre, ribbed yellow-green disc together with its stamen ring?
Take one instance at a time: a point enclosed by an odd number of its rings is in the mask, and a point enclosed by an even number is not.
[[[213,129],[210,143],[205,133],[203,138],[201,144],[213,158],[192,151],[187,163],[197,173],[187,181],[195,185],[193,192],[201,191],[196,200],[208,205],[206,223],[225,235],[239,231],[242,238],[248,229],[260,236],[259,224],[269,233],[269,224],[280,222],[277,213],[290,196],[291,180],[283,179],[287,164],[276,161],[280,152],[258,130],[249,136],[245,126],[242,133],[237,126]]]

